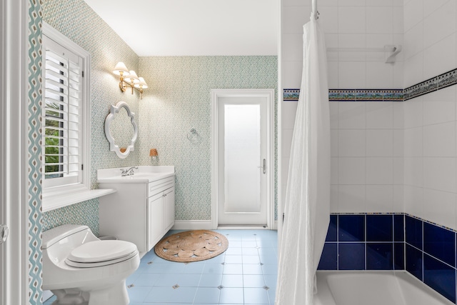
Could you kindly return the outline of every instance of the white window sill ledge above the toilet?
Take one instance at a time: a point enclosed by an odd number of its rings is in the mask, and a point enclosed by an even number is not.
[[[99,198],[101,196],[115,193],[115,189],[92,189],[85,191],[76,191],[74,193],[54,194],[51,196],[43,196],[41,211],[47,212],[54,209],[71,206],[89,199]]]

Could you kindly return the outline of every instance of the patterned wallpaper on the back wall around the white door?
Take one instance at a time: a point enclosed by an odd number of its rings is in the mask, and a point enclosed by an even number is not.
[[[153,56],[139,67],[149,85],[138,112],[140,164],[175,166],[177,220],[211,220],[211,89],[277,89],[277,57]],[[191,129],[199,143],[187,139]]]

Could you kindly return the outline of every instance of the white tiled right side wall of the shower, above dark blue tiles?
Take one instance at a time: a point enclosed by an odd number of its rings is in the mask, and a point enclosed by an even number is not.
[[[405,87],[457,66],[456,1],[405,0]],[[403,102],[405,212],[457,229],[457,91]]]

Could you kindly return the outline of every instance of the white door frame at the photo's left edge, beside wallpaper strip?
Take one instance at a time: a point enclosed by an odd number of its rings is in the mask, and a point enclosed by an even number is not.
[[[27,243],[27,0],[0,4],[0,223],[9,237],[0,246],[1,304],[29,304]],[[41,287],[36,287],[41,289]]]

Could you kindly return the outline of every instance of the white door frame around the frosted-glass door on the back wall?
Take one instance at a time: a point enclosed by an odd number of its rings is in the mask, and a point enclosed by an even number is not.
[[[274,229],[274,89],[211,89],[211,228],[217,229],[218,219],[218,133],[219,133],[219,98],[224,97],[262,97],[266,98],[267,116],[267,151],[266,151],[266,225]]]

